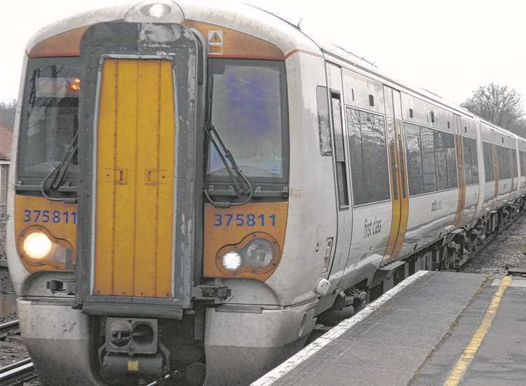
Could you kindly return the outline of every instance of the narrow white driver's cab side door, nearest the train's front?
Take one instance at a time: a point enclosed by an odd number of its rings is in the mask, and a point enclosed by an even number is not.
[[[335,253],[330,265],[329,281],[335,288],[343,277],[347,258],[351,248],[353,226],[351,190],[349,188],[349,164],[346,150],[346,126],[344,120],[344,100],[342,84],[342,68],[327,63],[328,98],[330,125],[332,128],[333,165],[335,170],[336,205],[337,205],[337,237]]]

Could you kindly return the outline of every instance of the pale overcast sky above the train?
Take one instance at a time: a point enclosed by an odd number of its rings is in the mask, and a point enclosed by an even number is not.
[[[495,82],[515,88],[526,106],[526,6],[521,1],[245,2],[291,21],[302,18],[306,31],[365,56],[388,75],[452,102],[462,102],[479,85]],[[0,100],[17,98],[24,47],[37,29],[74,13],[121,3],[2,0]]]

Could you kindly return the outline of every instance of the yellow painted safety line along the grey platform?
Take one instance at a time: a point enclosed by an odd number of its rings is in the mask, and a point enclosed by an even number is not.
[[[471,337],[471,340],[464,349],[464,352],[462,352],[457,363],[452,368],[452,371],[447,375],[444,386],[457,386],[460,380],[464,377],[469,364],[471,364],[473,357],[475,357],[475,354],[478,351],[478,347],[482,344],[487,332],[490,331],[493,319],[495,319],[495,315],[497,315],[501,299],[504,296],[504,291],[506,291],[506,288],[511,284],[511,280],[512,279],[509,276],[504,277],[504,279],[501,280],[499,289],[493,296],[490,306],[487,307],[483,320],[480,322],[480,326],[478,326],[477,331],[475,331]]]

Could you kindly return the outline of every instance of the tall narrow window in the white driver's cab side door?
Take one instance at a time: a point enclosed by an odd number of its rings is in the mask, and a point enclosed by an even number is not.
[[[344,130],[342,122],[342,102],[339,94],[330,94],[332,109],[332,126],[335,135],[336,179],[338,185],[339,208],[349,206],[349,192],[347,190],[347,168],[345,165]]]

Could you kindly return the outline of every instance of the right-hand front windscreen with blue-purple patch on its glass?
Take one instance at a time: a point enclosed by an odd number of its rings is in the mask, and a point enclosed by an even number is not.
[[[288,156],[285,63],[212,59],[210,121],[248,178],[283,180]],[[227,178],[209,146],[208,176]]]

